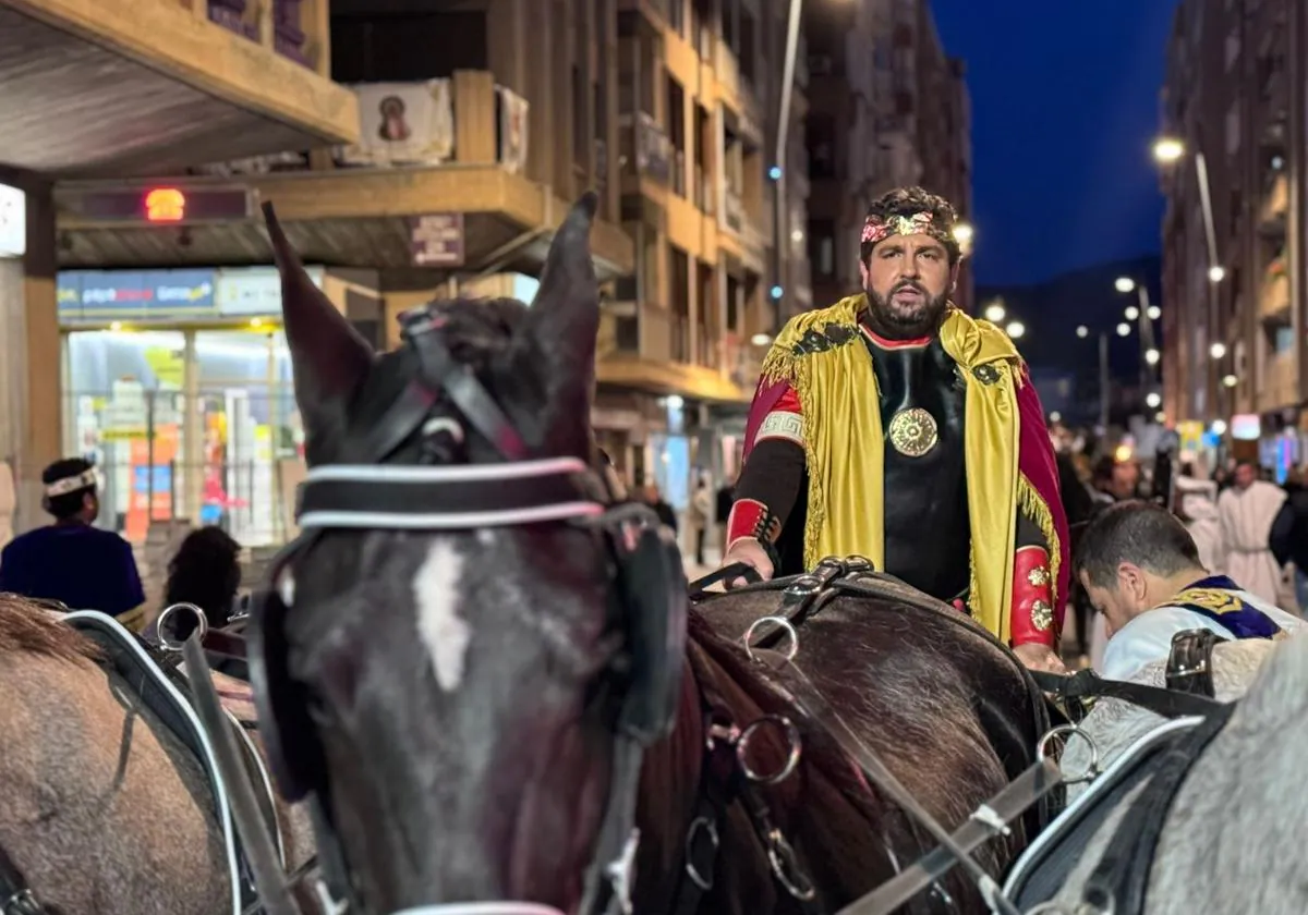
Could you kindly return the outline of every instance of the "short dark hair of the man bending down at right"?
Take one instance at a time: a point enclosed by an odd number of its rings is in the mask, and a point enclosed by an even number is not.
[[[1202,567],[1199,548],[1185,525],[1165,508],[1138,499],[1109,506],[1090,523],[1076,545],[1073,567],[1078,578],[1084,574],[1096,588],[1113,588],[1124,562],[1155,575]]]

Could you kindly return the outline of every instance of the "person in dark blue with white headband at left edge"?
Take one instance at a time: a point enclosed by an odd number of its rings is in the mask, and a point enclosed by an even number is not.
[[[101,610],[139,631],[145,591],[132,546],[94,527],[95,469],[81,458],[56,460],[41,474],[42,506],[55,523],[16,537],[0,553],[0,591],[52,600],[71,610]]]

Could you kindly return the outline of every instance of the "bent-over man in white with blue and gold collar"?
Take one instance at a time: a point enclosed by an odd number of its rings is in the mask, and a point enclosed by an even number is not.
[[[1074,573],[1109,633],[1101,674],[1129,680],[1165,660],[1172,637],[1207,629],[1219,638],[1279,639],[1303,620],[1199,565],[1181,522],[1147,502],[1107,508],[1082,535]]]

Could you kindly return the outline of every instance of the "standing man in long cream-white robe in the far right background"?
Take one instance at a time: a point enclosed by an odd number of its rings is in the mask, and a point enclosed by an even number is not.
[[[1258,468],[1249,463],[1235,468],[1235,485],[1218,498],[1222,571],[1269,604],[1281,595],[1281,563],[1269,539],[1284,501],[1286,491],[1260,480]]]

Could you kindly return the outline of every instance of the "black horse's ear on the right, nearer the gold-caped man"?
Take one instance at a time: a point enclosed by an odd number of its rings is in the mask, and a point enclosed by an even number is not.
[[[545,358],[552,405],[581,407],[591,399],[599,282],[590,259],[590,227],[598,204],[587,191],[559,226],[521,331],[527,349]]]

